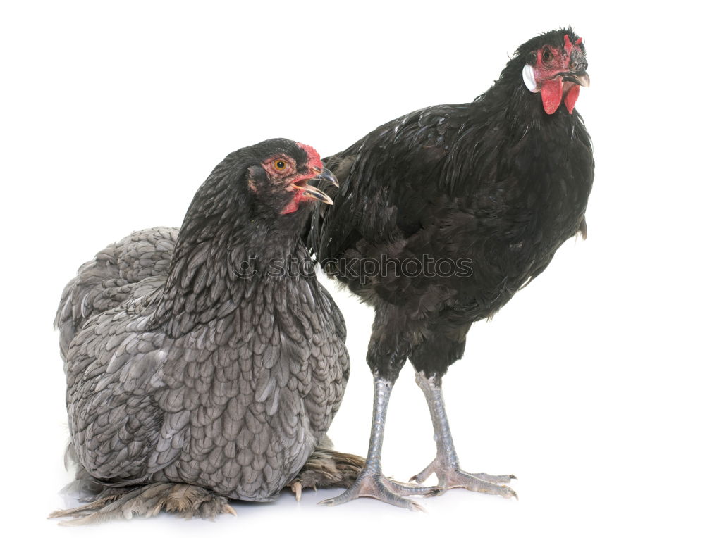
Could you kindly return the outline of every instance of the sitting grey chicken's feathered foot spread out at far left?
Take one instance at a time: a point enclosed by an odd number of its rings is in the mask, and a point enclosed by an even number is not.
[[[159,512],[174,512],[182,518],[194,516],[213,520],[220,513],[237,515],[227,497],[190,484],[157,482],[123,492],[112,489],[111,494],[101,496],[92,503],[57,510],[49,518],[74,518],[61,521],[59,525],[85,525],[112,519],[132,519],[133,515],[151,518]]]

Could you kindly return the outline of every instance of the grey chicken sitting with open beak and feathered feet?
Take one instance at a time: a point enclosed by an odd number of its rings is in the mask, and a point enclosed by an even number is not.
[[[240,149],[180,232],[135,232],[82,265],[56,325],[70,449],[94,502],[54,515],[212,517],[228,499],[274,499],[324,443],[349,360],[299,237],[309,202],[330,202],[312,179],[337,184],[309,146]],[[350,485],[362,463],[338,456],[317,451],[299,490]]]

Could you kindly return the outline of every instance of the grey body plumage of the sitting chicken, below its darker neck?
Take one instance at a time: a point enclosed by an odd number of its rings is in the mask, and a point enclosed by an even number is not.
[[[73,446],[93,477],[114,486],[185,482],[272,499],[340,404],[345,323],[315,279],[255,280],[221,318],[178,338],[150,330],[177,232],[131,234],[82,265],[64,291],[57,323],[62,339],[73,335]]]

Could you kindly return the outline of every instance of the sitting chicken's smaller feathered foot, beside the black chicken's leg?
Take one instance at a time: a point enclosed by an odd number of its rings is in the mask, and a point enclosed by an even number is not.
[[[364,458],[360,456],[317,448],[288,486],[295,493],[296,500],[300,501],[301,491],[307,487],[318,489],[352,486],[363,467]]]

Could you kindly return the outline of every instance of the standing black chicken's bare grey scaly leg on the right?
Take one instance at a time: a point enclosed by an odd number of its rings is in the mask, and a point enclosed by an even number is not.
[[[464,487],[471,492],[482,492],[503,497],[516,497],[517,494],[510,487],[499,484],[508,484],[514,475],[487,475],[486,473],[465,473],[460,469],[458,454],[455,453],[453,437],[450,435],[446,405],[443,403],[441,389],[441,376],[426,375],[417,372],[416,382],[426,396],[431,412],[431,422],[434,425],[434,439],[436,439],[436,458],[421,473],[411,477],[411,481],[422,483],[431,474],[436,473],[439,479],[439,488],[443,491],[453,487]]]

